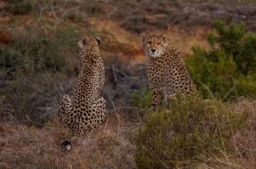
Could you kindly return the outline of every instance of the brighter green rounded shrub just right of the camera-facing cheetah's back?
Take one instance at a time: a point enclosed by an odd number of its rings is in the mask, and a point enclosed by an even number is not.
[[[234,86],[233,79],[236,78],[236,63],[231,57],[225,58],[224,52],[216,50],[207,53],[200,47],[192,48],[193,56],[187,59],[187,66],[196,86],[208,97],[208,91],[204,83],[212,93],[224,97]],[[212,57],[218,61],[209,60]],[[234,91],[232,91],[234,92]]]

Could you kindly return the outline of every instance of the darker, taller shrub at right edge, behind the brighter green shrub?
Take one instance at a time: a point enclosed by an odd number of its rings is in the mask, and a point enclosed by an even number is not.
[[[247,75],[254,73],[256,69],[256,35],[247,33],[244,24],[231,23],[225,26],[222,21],[215,22],[217,36],[211,35],[215,41],[211,42],[212,47],[216,42],[226,55],[233,57],[238,71]]]

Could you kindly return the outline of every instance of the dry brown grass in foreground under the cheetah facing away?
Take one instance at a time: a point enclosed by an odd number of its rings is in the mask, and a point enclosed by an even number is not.
[[[2,122],[0,168],[136,168],[130,130],[124,119],[110,114],[102,127],[79,138],[67,152],[60,143],[68,132],[57,121],[41,128]]]

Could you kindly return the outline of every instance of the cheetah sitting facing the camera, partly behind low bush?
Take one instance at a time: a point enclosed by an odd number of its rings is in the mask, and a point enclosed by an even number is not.
[[[175,94],[183,96],[195,91],[181,54],[172,47],[166,34],[142,34],[143,50],[149,57],[148,81],[152,90],[151,108],[158,110],[163,96],[165,103]]]

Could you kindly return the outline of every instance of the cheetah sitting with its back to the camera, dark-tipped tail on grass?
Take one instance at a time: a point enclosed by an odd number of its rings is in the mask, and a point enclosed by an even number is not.
[[[99,37],[83,37],[78,42],[79,76],[70,95],[61,99],[59,119],[72,132],[61,147],[71,149],[73,138],[95,129],[106,118],[106,100],[100,97],[105,70],[100,54]]]

